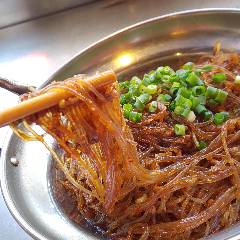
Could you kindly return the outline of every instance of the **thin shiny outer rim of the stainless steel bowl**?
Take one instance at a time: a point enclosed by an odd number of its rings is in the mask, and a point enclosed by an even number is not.
[[[127,32],[129,30],[132,30],[134,28],[140,27],[145,24],[157,22],[159,20],[163,19],[169,19],[171,17],[179,17],[179,16],[188,16],[191,14],[198,14],[198,13],[234,13],[234,14],[239,14],[240,9],[237,8],[203,8],[203,9],[194,9],[194,10],[184,10],[184,11],[179,11],[179,12],[174,12],[174,13],[169,13],[169,14],[164,14],[161,16],[153,17],[144,21],[140,21],[136,24],[132,24],[128,27],[125,27],[121,30],[118,30],[102,39],[99,41],[94,42],[93,44],[89,45],[88,47],[84,48],[82,51],[77,53],[75,56],[73,56],[69,61],[61,65],[58,70],[55,71],[41,86],[38,88],[42,88],[46,86],[48,83],[50,83],[55,76],[58,75],[58,73],[64,68],[68,67],[69,65],[72,64],[74,60],[76,60],[78,57],[80,57],[83,53],[86,53],[90,51],[92,48],[98,47],[101,43],[103,43],[106,40],[110,40],[111,38],[117,37],[118,35],[121,35],[124,32]],[[24,217],[18,212],[17,208],[15,207],[14,201],[11,198],[11,195],[8,190],[8,184],[7,184],[7,179],[6,179],[6,174],[5,174],[5,169],[6,169],[6,153],[8,150],[9,142],[14,134],[12,131],[8,131],[5,138],[4,138],[4,143],[1,151],[1,165],[0,165],[0,188],[1,192],[4,198],[4,201],[7,205],[8,210],[10,211],[11,215],[14,217],[14,219],[17,221],[19,226],[26,232],[28,233],[31,237],[37,240],[48,240],[45,236],[43,236],[40,232],[36,231],[30,223],[28,223]]]

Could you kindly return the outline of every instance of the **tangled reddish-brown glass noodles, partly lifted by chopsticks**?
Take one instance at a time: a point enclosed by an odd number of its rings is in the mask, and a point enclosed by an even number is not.
[[[199,239],[239,221],[240,210],[240,74],[239,55],[204,56],[197,66],[212,64],[227,75],[227,101],[217,106],[230,118],[216,126],[189,122],[160,106],[134,123],[124,119],[116,84],[101,92],[84,81],[54,83],[50,89],[73,94],[59,106],[23,121],[22,138],[43,142],[64,174],[56,181],[61,201],[71,198],[75,221],[87,219],[110,239]],[[202,78],[211,84],[210,73]],[[216,109],[214,109],[216,110]],[[36,123],[62,149],[51,149],[30,126]],[[184,136],[173,125],[188,127]],[[208,142],[202,150],[194,139]]]

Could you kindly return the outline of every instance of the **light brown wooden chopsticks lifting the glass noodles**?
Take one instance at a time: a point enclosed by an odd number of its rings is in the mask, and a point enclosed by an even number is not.
[[[113,71],[106,71],[86,79],[96,89],[107,86],[117,81],[116,75]],[[12,122],[20,120],[24,117],[30,116],[41,110],[53,107],[59,103],[60,100],[71,97],[70,92],[64,90],[49,91],[39,96],[25,100],[16,106],[0,111],[0,127],[4,127]]]

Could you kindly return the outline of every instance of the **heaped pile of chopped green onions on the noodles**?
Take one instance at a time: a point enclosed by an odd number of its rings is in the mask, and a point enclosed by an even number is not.
[[[162,102],[168,106],[169,111],[188,121],[193,122],[196,119],[195,114],[198,114],[205,121],[213,118],[216,125],[222,124],[228,118],[228,113],[216,113],[213,116],[207,106],[224,103],[228,92],[206,86],[201,80],[203,72],[213,69],[214,66],[209,64],[198,67],[187,62],[176,72],[169,66],[161,66],[145,74],[143,80],[134,76],[130,81],[120,82],[120,104],[124,116],[138,122],[142,119],[144,110],[154,113],[159,102]],[[224,73],[212,74],[214,83],[222,83],[226,79]],[[240,85],[240,75],[236,76],[235,83]]]

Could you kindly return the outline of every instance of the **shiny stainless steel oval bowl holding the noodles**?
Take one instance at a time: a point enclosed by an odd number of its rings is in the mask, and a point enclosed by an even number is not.
[[[224,49],[240,50],[240,11],[206,9],[161,16],[123,29],[90,46],[63,66],[52,80],[77,73],[114,69],[119,79],[160,64],[179,64],[212,50],[216,41]],[[19,166],[10,159],[16,157]],[[54,200],[50,184],[51,157],[38,142],[22,142],[9,134],[2,151],[1,187],[9,210],[36,239],[97,237],[71,222]],[[240,239],[240,227],[211,239]]]

